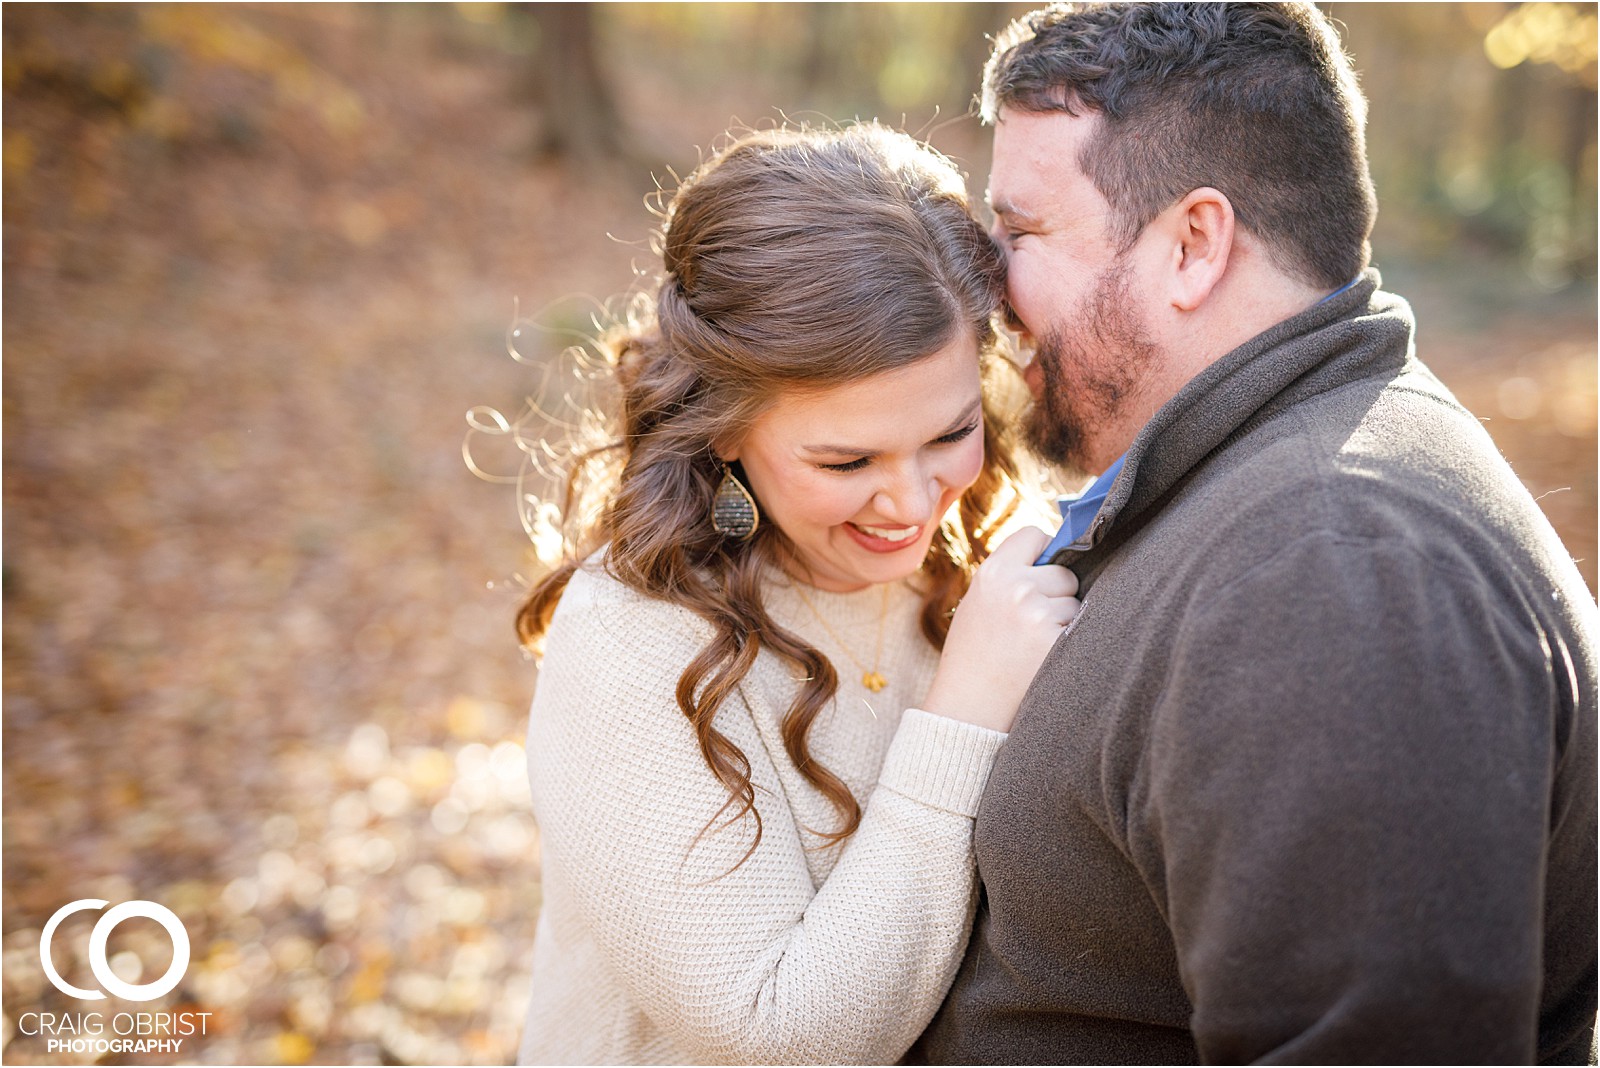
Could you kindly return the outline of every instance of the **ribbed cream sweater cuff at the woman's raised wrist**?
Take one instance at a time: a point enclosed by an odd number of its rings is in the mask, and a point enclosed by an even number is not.
[[[1000,731],[907,708],[878,782],[914,801],[974,817],[1005,737]]]

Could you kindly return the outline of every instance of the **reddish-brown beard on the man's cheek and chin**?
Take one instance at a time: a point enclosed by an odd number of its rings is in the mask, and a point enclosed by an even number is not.
[[[1022,433],[1040,459],[1069,472],[1096,473],[1091,443],[1126,412],[1158,358],[1131,310],[1128,273],[1122,264],[1107,267],[1070,321],[1035,336],[1034,363],[1043,389]],[[1109,464],[1117,457],[1101,459]]]

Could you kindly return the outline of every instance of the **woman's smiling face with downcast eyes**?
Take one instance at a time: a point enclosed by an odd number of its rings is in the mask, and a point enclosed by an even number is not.
[[[797,577],[837,592],[904,579],[982,470],[978,341],[963,331],[896,371],[782,393],[722,459],[794,544]]]

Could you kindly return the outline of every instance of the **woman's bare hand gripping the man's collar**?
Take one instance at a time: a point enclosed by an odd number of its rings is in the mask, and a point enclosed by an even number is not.
[[[1038,528],[1022,528],[978,568],[950,620],[926,711],[1011,729],[1034,673],[1078,612],[1078,577],[1058,564],[1034,566],[1048,544]]]

